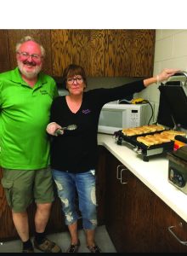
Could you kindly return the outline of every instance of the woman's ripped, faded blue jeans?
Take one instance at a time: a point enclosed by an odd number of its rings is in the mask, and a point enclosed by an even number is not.
[[[83,229],[94,230],[97,226],[95,171],[75,174],[53,170],[52,173],[62,203],[62,210],[65,213],[65,224],[73,224],[79,218],[75,204],[77,191]]]

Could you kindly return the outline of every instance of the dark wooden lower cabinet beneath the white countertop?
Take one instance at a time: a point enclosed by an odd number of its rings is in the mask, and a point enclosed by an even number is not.
[[[186,253],[184,220],[111,153],[105,154],[105,225],[116,251]]]

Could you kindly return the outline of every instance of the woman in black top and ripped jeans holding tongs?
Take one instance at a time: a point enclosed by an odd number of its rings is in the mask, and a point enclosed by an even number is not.
[[[165,69],[158,76],[125,84],[112,89],[95,89],[84,92],[87,79],[84,69],[70,65],[63,73],[63,83],[69,95],[54,99],[51,107],[51,123],[48,134],[53,135],[51,145],[51,166],[65,224],[71,234],[68,253],[77,253],[80,241],[77,233],[78,214],[74,204],[77,191],[82,225],[87,246],[91,253],[100,253],[94,241],[97,226],[95,199],[95,166],[97,163],[97,132],[99,113],[106,102],[116,101],[143,90],[153,83],[167,80],[176,69]],[[74,131],[59,130],[75,124]],[[60,136],[57,136],[61,133]]]

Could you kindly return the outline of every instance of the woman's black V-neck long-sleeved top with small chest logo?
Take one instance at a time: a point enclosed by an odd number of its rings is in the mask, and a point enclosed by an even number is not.
[[[143,80],[111,89],[95,89],[83,93],[82,105],[72,113],[65,96],[58,96],[51,106],[50,122],[62,127],[77,125],[74,131],[52,137],[51,167],[61,172],[88,172],[95,169],[98,156],[97,133],[101,108],[107,102],[123,99],[144,89]]]

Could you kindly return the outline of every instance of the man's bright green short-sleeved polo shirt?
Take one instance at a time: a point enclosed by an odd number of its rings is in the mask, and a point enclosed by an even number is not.
[[[46,126],[58,95],[55,81],[40,73],[33,88],[18,67],[0,74],[0,166],[35,170],[49,164]]]

